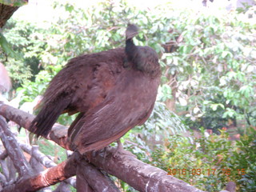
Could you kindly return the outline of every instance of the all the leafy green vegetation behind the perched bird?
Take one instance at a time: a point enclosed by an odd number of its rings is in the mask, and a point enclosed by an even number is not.
[[[202,190],[219,191],[229,181],[238,191],[256,190],[255,7],[209,14],[171,4],[138,10],[126,1],[53,6],[62,15],[47,30],[18,19],[2,30],[11,98],[32,102],[70,58],[124,46],[127,23],[136,23],[134,42],[158,52],[162,84],[150,119],[122,138],[126,149]],[[233,134],[241,138],[230,141]]]

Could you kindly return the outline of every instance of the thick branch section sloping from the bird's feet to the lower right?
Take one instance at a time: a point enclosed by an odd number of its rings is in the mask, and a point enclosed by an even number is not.
[[[186,182],[167,175],[166,171],[150,166],[130,155],[113,158],[114,147],[92,153],[90,161],[109,174],[121,178],[138,191],[202,191]]]

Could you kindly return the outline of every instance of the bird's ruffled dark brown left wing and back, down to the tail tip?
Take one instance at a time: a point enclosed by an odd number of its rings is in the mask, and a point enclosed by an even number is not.
[[[30,130],[46,136],[60,114],[86,113],[103,102],[122,67],[123,54],[123,49],[116,49],[71,59],[50,82]]]

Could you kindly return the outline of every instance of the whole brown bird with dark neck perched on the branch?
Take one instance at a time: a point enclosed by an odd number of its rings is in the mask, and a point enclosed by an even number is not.
[[[158,54],[135,46],[138,27],[128,25],[126,47],[71,59],[50,82],[30,130],[47,136],[62,113],[78,114],[68,136],[81,154],[99,150],[149,118],[160,83]]]

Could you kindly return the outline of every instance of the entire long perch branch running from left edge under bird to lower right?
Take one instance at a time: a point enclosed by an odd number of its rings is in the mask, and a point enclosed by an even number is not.
[[[25,128],[29,127],[31,120],[34,118],[33,115],[4,104],[0,104],[0,114],[9,118],[11,121],[17,122]],[[67,128],[58,132],[55,125],[50,133],[50,139],[60,143],[64,148],[66,148],[65,146],[70,146],[67,142],[66,134],[64,134]],[[62,140],[62,142],[59,142],[58,140]],[[69,147],[66,149],[69,149]],[[136,158],[127,155],[118,155],[117,158],[113,158],[113,150],[113,147],[106,149],[105,155],[101,151],[92,153],[90,162],[102,170],[105,170],[107,173],[113,174],[122,179],[122,181],[127,182],[136,190],[169,192],[202,191],[194,186],[190,186],[186,182],[167,175],[166,171],[147,165]]]

